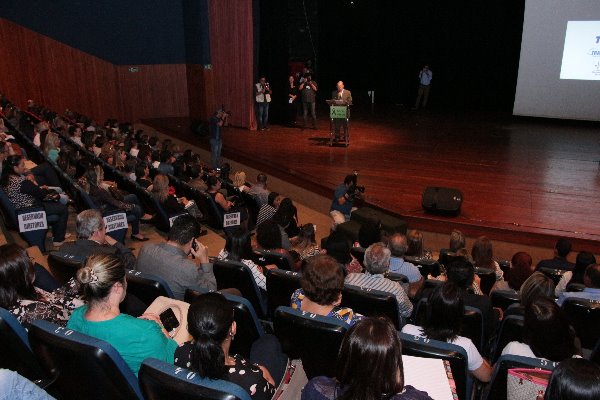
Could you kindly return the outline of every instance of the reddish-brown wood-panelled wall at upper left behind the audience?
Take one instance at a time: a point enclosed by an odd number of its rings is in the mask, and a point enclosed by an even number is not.
[[[185,64],[116,66],[0,19],[0,91],[97,120],[188,115]]]

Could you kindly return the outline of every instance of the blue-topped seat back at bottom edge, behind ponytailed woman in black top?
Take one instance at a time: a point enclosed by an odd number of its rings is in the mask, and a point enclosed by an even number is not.
[[[198,373],[155,358],[142,363],[140,387],[145,400],[250,400],[235,383],[202,378]]]

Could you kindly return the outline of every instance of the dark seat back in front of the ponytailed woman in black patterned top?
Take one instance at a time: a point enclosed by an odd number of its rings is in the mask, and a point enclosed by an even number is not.
[[[191,304],[194,301],[197,301],[200,295],[208,292],[209,290],[205,288],[197,286],[189,287],[185,290],[184,300]],[[237,330],[241,333],[231,342],[231,353],[241,354],[245,358],[249,358],[252,344],[263,336],[265,331],[254,311],[254,307],[247,299],[229,293],[222,294],[229,304],[233,306]]]

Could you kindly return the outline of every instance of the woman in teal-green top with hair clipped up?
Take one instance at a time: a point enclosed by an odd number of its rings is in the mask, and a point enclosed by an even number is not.
[[[88,305],[73,312],[67,328],[110,343],[136,376],[146,358],[173,363],[177,343],[156,315],[134,318],[119,311],[127,294],[127,281],[118,258],[108,254],[88,257],[77,271],[77,280]]]

